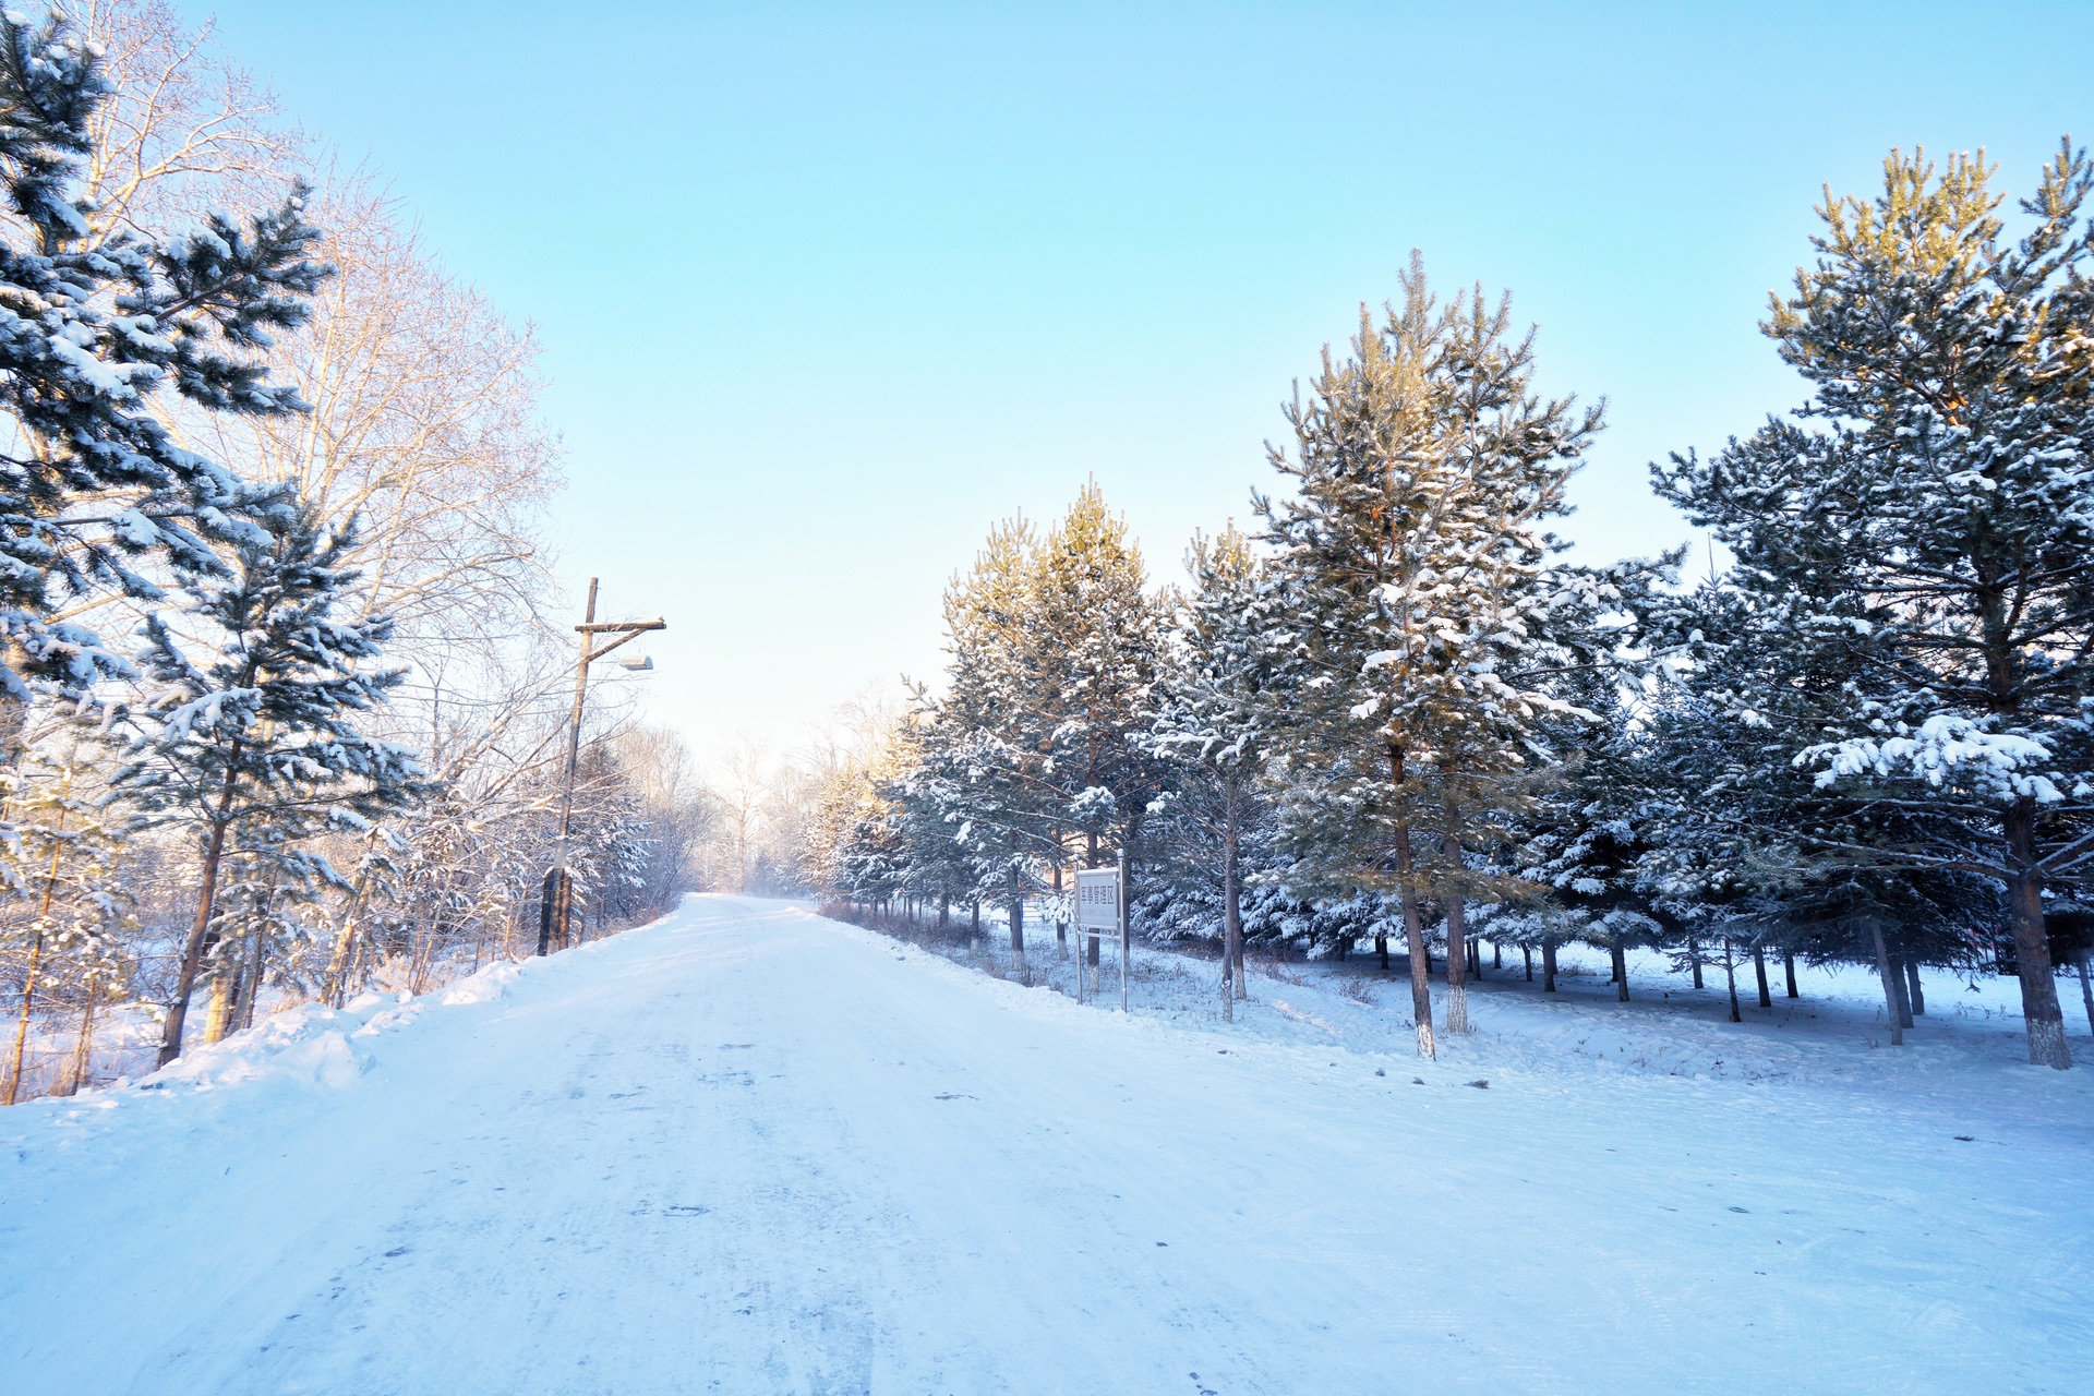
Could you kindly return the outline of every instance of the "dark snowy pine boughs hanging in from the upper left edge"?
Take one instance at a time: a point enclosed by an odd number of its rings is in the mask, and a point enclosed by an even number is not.
[[[247,488],[176,440],[170,389],[182,410],[299,410],[262,354],[327,272],[308,257],[304,186],[268,216],[214,211],[165,243],[96,234],[80,157],[107,98],[101,54],[67,19],[0,15],[0,414],[17,433],[0,456],[0,756],[19,747],[27,684],[126,672],[61,615],[69,603],[159,599],[149,563],[216,573],[214,546],[249,536]]]

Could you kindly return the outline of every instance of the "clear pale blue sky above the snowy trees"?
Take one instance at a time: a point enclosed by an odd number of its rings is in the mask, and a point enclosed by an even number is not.
[[[1085,475],[1177,576],[1411,247],[1608,398],[1581,548],[1679,542],[1644,467],[1797,398],[1755,327],[1824,182],[1983,144],[2019,193],[2094,136],[2086,0],[216,15],[540,327],[576,609],[668,615],[649,707],[699,749],[936,672],[949,576]]]

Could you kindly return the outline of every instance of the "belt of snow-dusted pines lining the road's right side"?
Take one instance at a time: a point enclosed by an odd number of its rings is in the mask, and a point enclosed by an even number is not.
[[[1650,467],[1707,538],[1591,565],[1552,532],[1604,408],[1537,389],[1510,295],[1413,253],[1286,404],[1248,527],[1158,584],[1093,483],[990,530],[949,666],[823,789],[808,875],[861,919],[980,936],[1030,982],[1070,873],[1124,852],[1135,933],[1395,954],[1418,1053],[1506,950],[1671,956],[1694,988],[2014,975],[2029,1061],[2094,1030],[2094,180],[2012,203],[1979,155],[1893,151],[1826,195],[1761,331],[1803,398]],[[1723,561],[1717,559],[1717,548]],[[1095,965],[1097,940],[1081,954]],[[1769,975],[1776,980],[1769,982]],[[1432,980],[1443,982],[1434,1005]],[[1780,980],[1786,977],[1786,984]]]

